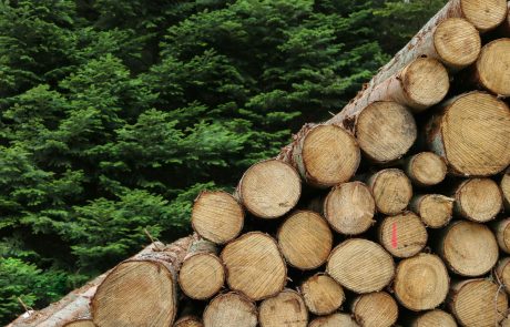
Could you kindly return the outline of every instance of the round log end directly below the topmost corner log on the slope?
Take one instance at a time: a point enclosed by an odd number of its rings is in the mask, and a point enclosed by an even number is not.
[[[434,32],[434,47],[446,65],[459,70],[473,63],[480,54],[480,33],[465,19],[446,19]]]

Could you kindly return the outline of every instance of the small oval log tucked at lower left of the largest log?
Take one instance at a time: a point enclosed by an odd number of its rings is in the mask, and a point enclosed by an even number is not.
[[[406,161],[406,173],[418,186],[441,183],[447,174],[445,161],[434,152],[420,152]]]

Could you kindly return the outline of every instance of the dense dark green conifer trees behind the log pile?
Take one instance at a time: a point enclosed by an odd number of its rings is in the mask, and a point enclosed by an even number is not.
[[[442,0],[0,0],[0,324],[337,112]]]

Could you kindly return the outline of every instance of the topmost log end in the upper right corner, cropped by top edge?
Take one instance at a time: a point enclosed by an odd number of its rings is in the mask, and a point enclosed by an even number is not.
[[[461,0],[460,9],[480,32],[497,28],[507,18],[506,0]]]

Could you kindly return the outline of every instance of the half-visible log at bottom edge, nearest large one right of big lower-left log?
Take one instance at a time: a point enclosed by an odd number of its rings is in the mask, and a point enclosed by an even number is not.
[[[256,327],[257,307],[235,292],[213,298],[204,310],[204,327]]]

